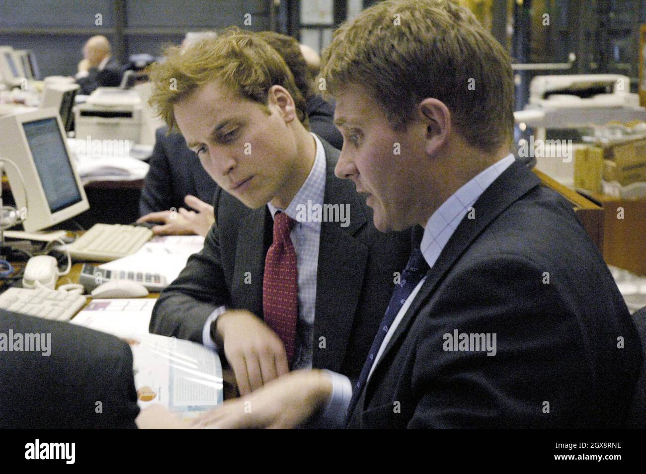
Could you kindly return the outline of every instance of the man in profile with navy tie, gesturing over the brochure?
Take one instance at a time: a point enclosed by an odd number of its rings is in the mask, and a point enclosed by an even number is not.
[[[380,231],[424,227],[421,246],[351,393],[291,373],[201,423],[290,427],[332,405],[349,428],[624,427],[640,340],[570,204],[509,153],[501,45],[452,1],[388,0],[323,61],[346,140],[337,176],[368,194]]]

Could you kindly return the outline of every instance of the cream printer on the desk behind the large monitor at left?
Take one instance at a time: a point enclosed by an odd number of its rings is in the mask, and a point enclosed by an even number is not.
[[[141,96],[136,90],[99,87],[74,107],[76,138],[141,141]]]

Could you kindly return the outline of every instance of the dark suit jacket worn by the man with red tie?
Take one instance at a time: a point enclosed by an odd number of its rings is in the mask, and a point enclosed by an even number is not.
[[[339,152],[323,141],[327,160],[324,203],[349,204],[348,227],[322,222],[318,249],[313,367],[357,378],[393,289],[410,254],[409,232],[381,234],[351,181],[334,176]],[[265,255],[273,239],[267,206],[249,209],[218,190],[216,224],[152,311],[150,330],[202,343],[216,307],[248,309],[262,318]],[[245,284],[245,273],[251,283]],[[325,348],[320,348],[320,337]]]

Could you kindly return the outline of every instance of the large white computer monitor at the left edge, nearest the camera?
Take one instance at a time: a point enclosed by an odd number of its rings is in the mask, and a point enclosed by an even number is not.
[[[90,209],[72,156],[56,108],[0,118],[0,158],[14,161],[25,179],[26,191],[14,167],[5,166],[16,206],[27,209],[25,231],[46,229]]]

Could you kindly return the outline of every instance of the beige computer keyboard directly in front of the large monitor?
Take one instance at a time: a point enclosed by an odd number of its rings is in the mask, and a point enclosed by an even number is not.
[[[78,260],[110,262],[133,254],[152,237],[146,227],[121,224],[95,224],[70,244],[72,257]]]

